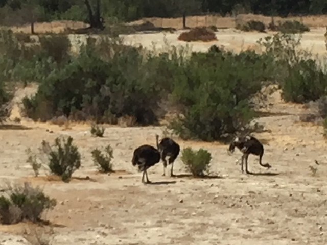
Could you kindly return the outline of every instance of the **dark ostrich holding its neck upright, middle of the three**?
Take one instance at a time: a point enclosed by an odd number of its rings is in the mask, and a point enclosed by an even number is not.
[[[168,159],[168,165],[172,164],[172,168],[170,169],[170,176],[174,176],[173,174],[173,167],[174,167],[174,161],[176,160],[178,154],[179,154],[179,144],[176,143],[171,138],[165,137],[161,139],[159,143],[159,135],[155,135],[156,141],[157,141],[157,149],[160,152],[160,157],[162,162],[164,162],[164,174],[162,176],[166,175],[166,167],[167,167],[167,160],[166,157],[169,156]]]

